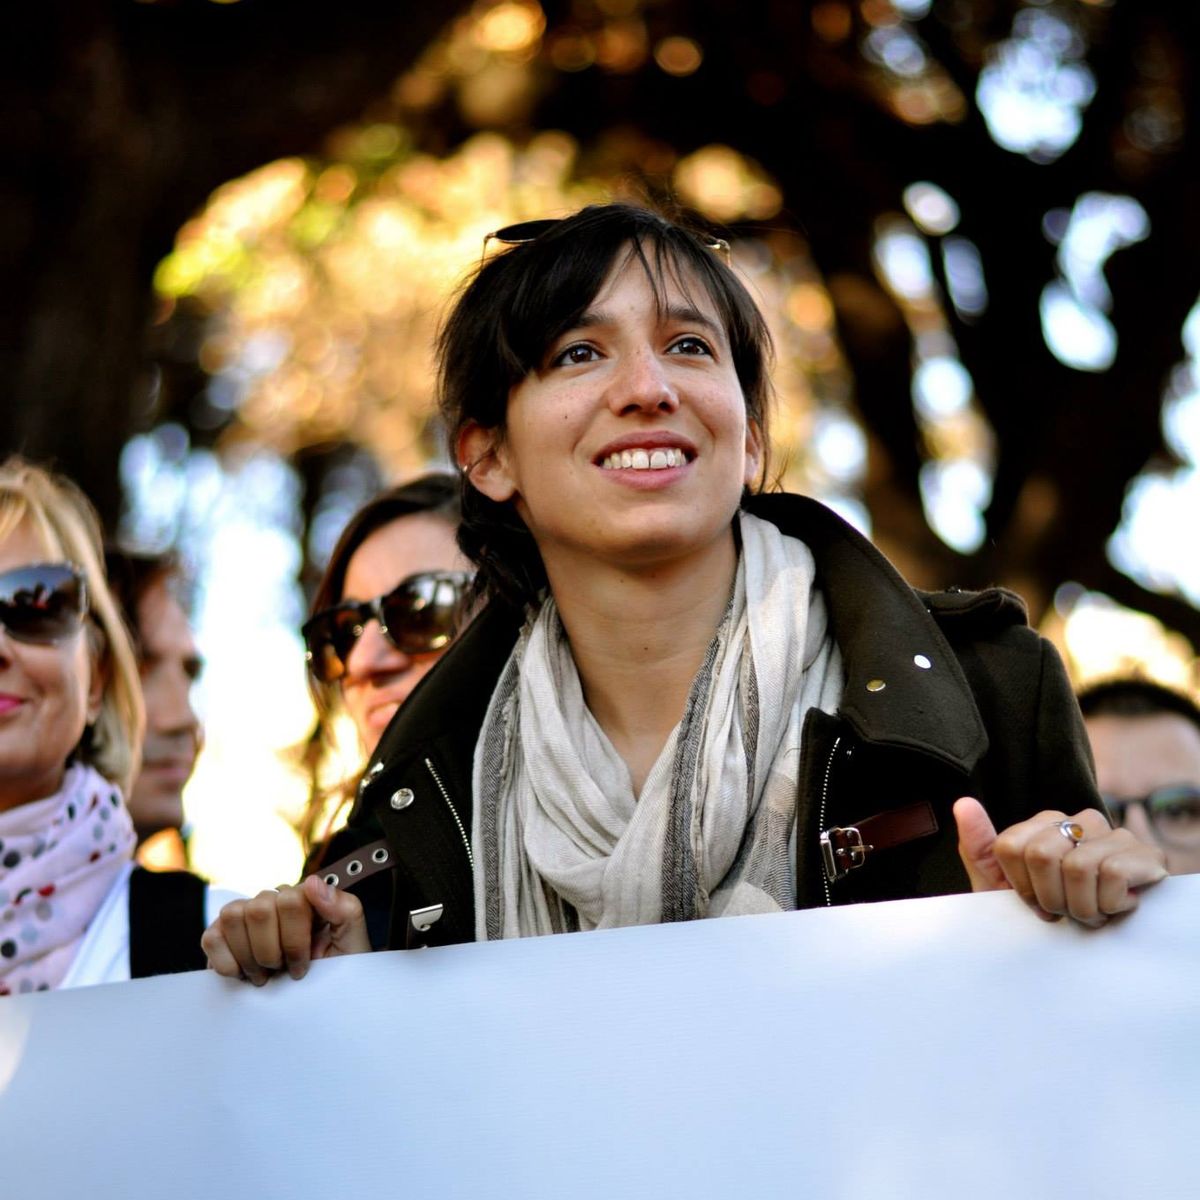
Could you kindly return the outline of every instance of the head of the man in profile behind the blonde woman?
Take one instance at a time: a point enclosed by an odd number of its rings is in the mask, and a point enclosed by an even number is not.
[[[109,550],[106,564],[133,634],[145,696],[142,772],[128,797],[138,840],[143,841],[184,822],[184,785],[200,746],[191,689],[203,660],[175,595],[176,568],[170,558]]]

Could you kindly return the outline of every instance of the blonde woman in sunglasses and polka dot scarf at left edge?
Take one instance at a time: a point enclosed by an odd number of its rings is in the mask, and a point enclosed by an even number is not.
[[[233,899],[133,869],[145,714],[102,562],[70,480],[0,463],[0,996],[200,967]]]

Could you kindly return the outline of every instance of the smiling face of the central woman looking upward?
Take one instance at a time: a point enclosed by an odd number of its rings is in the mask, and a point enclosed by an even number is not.
[[[572,564],[706,552],[731,536],[757,473],[757,430],[704,287],[685,275],[662,307],[641,264],[618,256],[578,325],[510,392],[503,436],[463,433],[472,481],[515,500],[552,583]]]

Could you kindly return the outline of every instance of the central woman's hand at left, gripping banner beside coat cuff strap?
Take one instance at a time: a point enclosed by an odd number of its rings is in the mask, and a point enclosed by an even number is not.
[[[313,959],[364,954],[371,942],[358,898],[310,875],[299,887],[227,904],[200,947],[217,974],[262,986],[284,970],[302,979]]]

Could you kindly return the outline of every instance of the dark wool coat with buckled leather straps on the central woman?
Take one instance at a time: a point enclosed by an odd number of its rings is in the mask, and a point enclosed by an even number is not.
[[[982,800],[997,829],[1042,809],[1103,810],[1062,662],[1027,626],[1016,595],[917,592],[865,538],[805,497],[755,497],[748,509],[812,551],[846,670],[838,714],[812,710],[805,720],[799,907],[968,890],[950,815],[960,796]],[[413,691],[367,768],[337,848],[386,839],[386,852],[374,853],[385,856],[388,871],[362,881],[377,943],[384,942],[384,887],[391,896],[386,944],[474,938],[475,738],[520,626],[518,614],[491,605]],[[936,829],[827,878],[822,830],[922,800]],[[370,864],[370,853],[360,860]],[[348,875],[346,865],[334,868],[343,886],[361,870]],[[409,914],[434,905],[439,919],[414,932]]]

